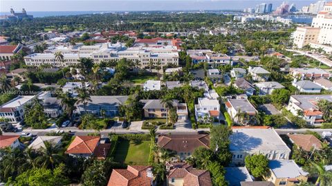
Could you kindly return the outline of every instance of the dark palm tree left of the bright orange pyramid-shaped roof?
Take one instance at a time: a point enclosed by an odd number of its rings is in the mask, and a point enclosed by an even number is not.
[[[54,169],[55,165],[61,162],[63,156],[61,154],[61,147],[52,145],[50,142],[44,142],[45,147],[39,149],[40,155],[36,158],[36,162],[44,168],[51,167]]]

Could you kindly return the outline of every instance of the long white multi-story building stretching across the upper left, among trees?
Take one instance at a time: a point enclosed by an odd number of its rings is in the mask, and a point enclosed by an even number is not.
[[[55,52],[61,52],[64,60],[57,59]],[[86,57],[93,59],[93,62],[100,63],[111,60],[130,59],[140,62],[140,67],[149,66],[149,62],[160,62],[161,66],[168,64],[178,65],[178,51],[175,46],[154,47],[133,47],[125,48],[121,44],[102,44],[95,46],[60,47],[47,50],[47,53],[35,53],[24,57],[26,65],[41,66],[49,64],[52,66],[71,66],[80,63],[80,58]]]

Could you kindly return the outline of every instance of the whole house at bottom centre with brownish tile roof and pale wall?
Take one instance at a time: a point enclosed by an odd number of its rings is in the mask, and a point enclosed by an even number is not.
[[[194,169],[187,163],[167,163],[169,174],[167,175],[168,186],[212,186],[210,172],[207,170]]]

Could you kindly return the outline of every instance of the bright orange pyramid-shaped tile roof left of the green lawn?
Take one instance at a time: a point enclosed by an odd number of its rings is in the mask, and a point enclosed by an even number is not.
[[[93,154],[99,140],[100,136],[76,136],[66,154]]]

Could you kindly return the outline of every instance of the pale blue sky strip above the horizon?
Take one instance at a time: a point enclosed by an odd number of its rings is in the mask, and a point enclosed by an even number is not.
[[[315,1],[295,0],[297,8]],[[259,3],[273,3],[277,8],[282,0],[0,0],[0,12],[10,8],[27,12],[39,11],[148,11],[148,10],[242,10]]]

